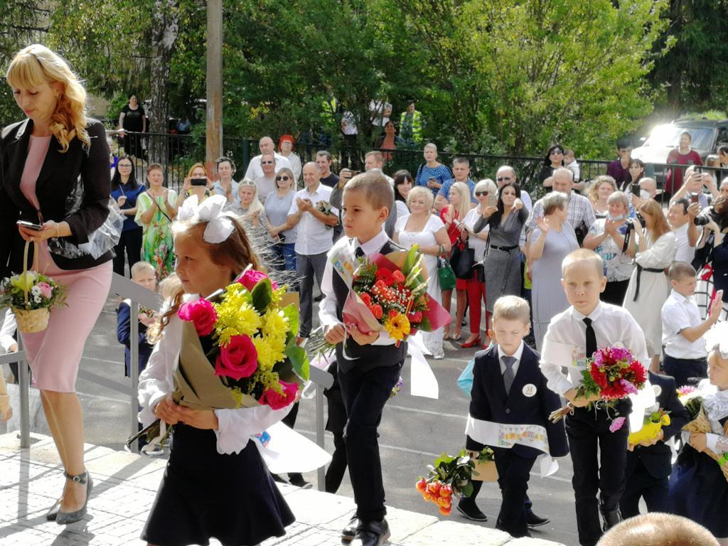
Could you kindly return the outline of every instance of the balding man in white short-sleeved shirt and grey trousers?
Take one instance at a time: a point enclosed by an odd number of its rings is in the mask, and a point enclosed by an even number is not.
[[[307,338],[311,334],[314,275],[321,288],[326,253],[333,245],[332,228],[339,223],[339,210],[331,207],[331,188],[324,186],[320,177],[316,163],[304,165],[306,187],[296,192],[288,211],[288,225],[296,226],[296,275],[301,280],[298,287],[301,297],[299,338]],[[328,213],[319,210],[322,202],[331,207]]]

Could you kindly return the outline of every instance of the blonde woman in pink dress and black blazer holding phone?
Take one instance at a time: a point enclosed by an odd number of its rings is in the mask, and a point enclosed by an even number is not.
[[[94,257],[81,245],[111,244],[98,232],[108,217],[109,151],[103,124],[86,116],[86,90],[55,52],[25,47],[7,82],[28,119],[5,127],[0,141],[0,277],[32,265],[66,288],[67,305],[52,310],[47,328],[21,334],[66,478],[45,517],[66,525],[84,517],[93,486],[76,376],[108,298],[112,253]],[[23,264],[26,242],[38,253],[33,264]]]

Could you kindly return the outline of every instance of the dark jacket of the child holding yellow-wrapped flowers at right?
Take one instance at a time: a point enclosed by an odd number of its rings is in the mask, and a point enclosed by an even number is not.
[[[682,427],[690,420],[690,417],[678,399],[675,389],[675,379],[669,376],[660,376],[657,373],[649,372],[649,382],[660,387],[660,395],[657,396],[657,403],[660,408],[670,412],[670,424],[662,427],[665,440],[670,440],[674,435],[679,434]],[[657,442],[654,446],[636,446],[633,451],[627,452],[627,466],[625,475],[630,476],[635,471],[637,463],[642,461],[647,471],[658,479],[667,478],[672,468],[672,451],[665,442]]]

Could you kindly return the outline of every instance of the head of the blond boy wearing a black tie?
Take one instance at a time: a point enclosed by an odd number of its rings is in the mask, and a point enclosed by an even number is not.
[[[590,314],[606,288],[601,256],[586,248],[569,253],[561,262],[561,285],[569,304],[581,314]]]

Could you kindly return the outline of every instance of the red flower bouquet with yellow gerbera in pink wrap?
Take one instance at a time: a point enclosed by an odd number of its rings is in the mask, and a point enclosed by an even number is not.
[[[363,333],[386,331],[397,346],[418,330],[445,325],[450,314],[427,294],[427,273],[417,246],[359,259],[344,303],[344,324]]]

